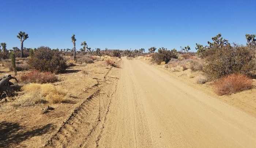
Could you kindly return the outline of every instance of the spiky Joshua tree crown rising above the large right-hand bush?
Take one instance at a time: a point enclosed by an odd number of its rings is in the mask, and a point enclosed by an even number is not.
[[[208,41],[208,48],[223,48],[225,46],[230,46],[230,43],[227,39],[223,39],[221,37],[221,34],[219,33],[218,35],[216,35],[215,37],[211,38],[213,42]]]

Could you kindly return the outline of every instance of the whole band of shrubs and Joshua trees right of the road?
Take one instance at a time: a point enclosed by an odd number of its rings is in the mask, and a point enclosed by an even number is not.
[[[125,50],[128,59],[143,59],[161,65],[170,72],[189,71],[187,77],[197,84],[210,84],[218,95],[230,95],[253,88],[256,78],[256,39],[246,34],[246,46],[231,44],[221,34],[208,41],[206,46],[196,43],[197,52],[190,46],[168,50],[155,47],[143,50]],[[244,81],[243,81],[244,80]],[[239,86],[239,87],[238,87]]]

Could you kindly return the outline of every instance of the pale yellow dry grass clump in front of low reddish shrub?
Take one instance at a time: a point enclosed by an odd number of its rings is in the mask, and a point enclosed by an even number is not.
[[[52,84],[30,83],[22,87],[26,94],[17,98],[14,106],[30,106],[38,103],[61,103],[67,98],[67,92]]]

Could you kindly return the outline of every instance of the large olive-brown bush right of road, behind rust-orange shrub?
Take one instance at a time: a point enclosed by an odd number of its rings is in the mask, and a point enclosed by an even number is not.
[[[249,75],[255,69],[255,53],[246,47],[223,47],[206,58],[203,71],[210,79],[242,73]]]

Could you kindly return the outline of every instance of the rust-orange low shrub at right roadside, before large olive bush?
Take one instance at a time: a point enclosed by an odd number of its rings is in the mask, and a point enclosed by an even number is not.
[[[214,89],[218,95],[229,95],[252,88],[252,79],[242,74],[224,76],[214,82]]]

